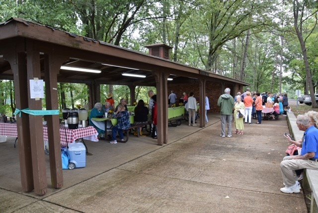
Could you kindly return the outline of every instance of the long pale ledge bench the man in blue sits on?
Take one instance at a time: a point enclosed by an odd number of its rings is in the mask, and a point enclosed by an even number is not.
[[[296,124],[296,116],[293,112],[287,112],[287,123],[289,131],[295,140],[303,138],[303,132],[300,131]],[[318,170],[305,169],[305,176],[303,179],[303,188],[312,192],[310,213],[318,212]]]

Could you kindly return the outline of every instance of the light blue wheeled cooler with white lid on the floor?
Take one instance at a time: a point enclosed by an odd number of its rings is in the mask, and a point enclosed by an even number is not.
[[[86,149],[83,143],[69,143],[69,169],[86,166]]]

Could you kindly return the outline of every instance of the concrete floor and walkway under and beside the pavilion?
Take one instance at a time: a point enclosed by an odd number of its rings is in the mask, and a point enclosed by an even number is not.
[[[307,212],[303,192],[279,191],[286,117],[247,124],[231,138],[220,137],[219,117],[209,114],[205,128],[168,127],[163,146],[146,136],[87,141],[86,167],[63,170],[64,187],[42,197],[21,192],[10,138],[0,143],[0,212]]]

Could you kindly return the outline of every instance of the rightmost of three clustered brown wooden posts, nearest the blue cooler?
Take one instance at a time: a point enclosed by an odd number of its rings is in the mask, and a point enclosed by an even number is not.
[[[57,56],[53,57],[52,53],[44,55],[46,109],[48,110],[59,108],[57,75],[64,61]],[[48,125],[51,183],[54,188],[59,189],[63,186],[60,117],[47,115],[45,118]]]

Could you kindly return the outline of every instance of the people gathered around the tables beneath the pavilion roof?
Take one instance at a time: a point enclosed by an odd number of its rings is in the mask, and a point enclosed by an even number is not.
[[[157,95],[154,93],[154,91],[150,90],[148,91],[148,96],[150,98],[148,107],[145,106],[145,102],[143,100],[139,100],[138,104],[135,106],[134,109],[134,124],[138,126],[142,126],[145,124],[150,124],[151,129],[151,136],[155,139],[157,139],[157,122],[158,122],[158,106],[157,106]],[[115,134],[119,134],[120,140],[123,141],[123,130],[131,128],[130,126],[130,119],[129,119],[129,113],[128,107],[127,107],[127,101],[126,99],[120,99],[119,105],[115,106],[115,100],[113,99],[113,94],[109,93],[106,96],[105,104],[102,105],[101,103],[96,103],[94,105],[94,108],[90,112],[89,116],[89,125],[94,126],[98,132],[98,138],[99,139],[105,139],[107,135],[105,135],[105,130],[99,128],[94,124],[94,121],[91,118],[103,118],[105,112],[108,113],[108,118],[117,118],[117,125],[112,127],[112,135],[110,143],[117,143],[116,138],[114,137]],[[177,102],[177,96],[176,94],[171,91],[168,95],[168,106],[175,107]],[[179,103],[182,103],[182,105],[186,108],[186,113],[188,113],[188,119],[189,119],[189,126],[196,126],[196,118],[197,118],[197,101],[194,97],[194,93],[191,92],[189,95],[184,92],[183,96],[179,99]],[[205,96],[205,123],[208,123],[208,116],[207,116],[207,110],[210,110],[210,104],[208,96]],[[126,113],[127,112],[127,113]],[[107,124],[107,128],[110,128],[111,124]],[[105,127],[106,128],[106,127]],[[134,133],[137,137],[140,137],[143,135],[142,127],[136,128],[136,131]]]

